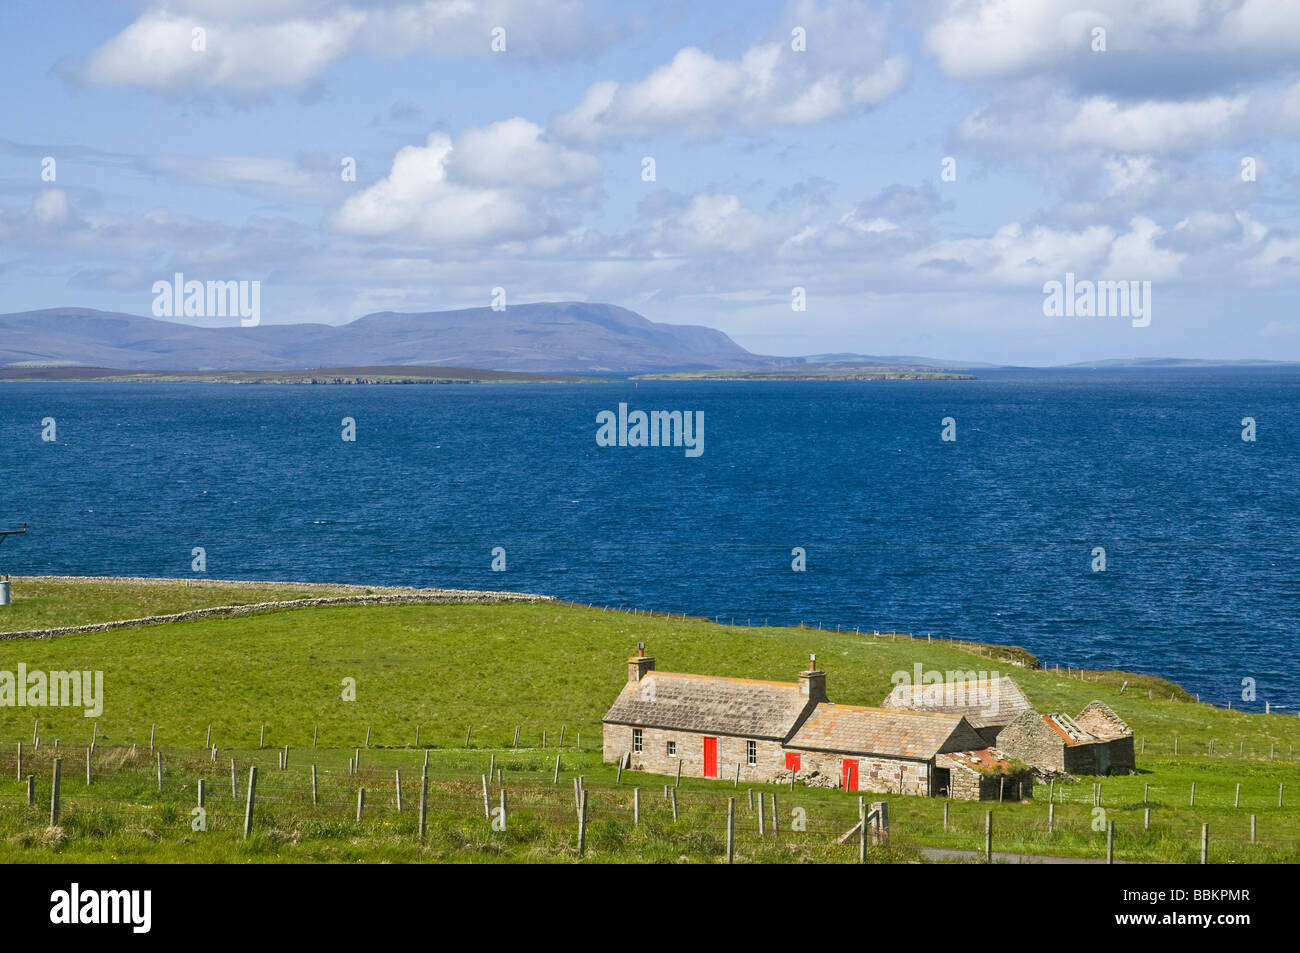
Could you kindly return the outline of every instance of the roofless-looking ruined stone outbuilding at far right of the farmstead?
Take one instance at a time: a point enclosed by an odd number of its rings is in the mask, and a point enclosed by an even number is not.
[[[998,736],[998,748],[1043,774],[1109,775],[1136,770],[1134,733],[1105,702],[1078,718],[1022,712]]]

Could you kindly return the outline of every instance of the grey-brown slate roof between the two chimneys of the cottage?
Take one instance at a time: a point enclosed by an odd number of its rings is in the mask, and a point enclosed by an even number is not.
[[[792,681],[649,672],[623,688],[604,720],[784,741],[811,705]]]

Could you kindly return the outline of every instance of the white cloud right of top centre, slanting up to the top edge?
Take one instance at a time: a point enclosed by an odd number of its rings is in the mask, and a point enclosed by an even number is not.
[[[862,112],[902,88],[906,62],[887,56],[884,16],[866,4],[800,0],[776,39],[734,59],[677,51],[642,79],[602,81],[558,114],[552,129],[575,142],[673,135],[710,139],[729,129],[800,126]],[[801,29],[806,49],[793,48]]]

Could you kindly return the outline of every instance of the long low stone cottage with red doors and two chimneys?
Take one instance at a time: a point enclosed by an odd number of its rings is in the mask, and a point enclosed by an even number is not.
[[[638,647],[604,715],[604,761],[620,759],[636,771],[750,783],[793,771],[845,790],[987,798],[1002,776],[1008,797],[1034,789],[962,715],[832,705],[815,657],[785,683],[659,672]]]

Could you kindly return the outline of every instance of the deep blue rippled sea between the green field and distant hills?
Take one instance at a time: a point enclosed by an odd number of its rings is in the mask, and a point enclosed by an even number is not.
[[[702,411],[705,452],[598,446],[597,413],[620,402]],[[933,633],[1300,710],[1295,368],[6,384],[0,462],[0,524],[31,524],[0,547],[12,573],[188,576],[202,546],[216,579]]]

